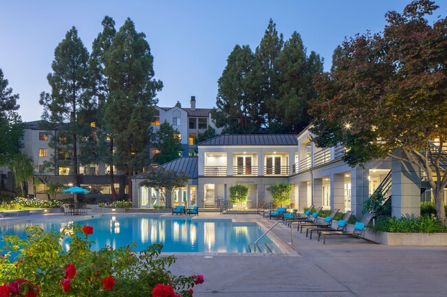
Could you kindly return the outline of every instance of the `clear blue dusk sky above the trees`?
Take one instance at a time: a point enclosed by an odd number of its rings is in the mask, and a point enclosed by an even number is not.
[[[447,1],[436,1],[437,15],[445,15]],[[138,32],[146,34],[154,56],[155,78],[164,83],[157,94],[162,107],[177,100],[189,107],[215,106],[217,80],[235,45],[259,45],[270,18],[276,30],[289,39],[301,34],[307,52],[325,59],[331,67],[334,48],[345,36],[379,32],[384,14],[402,12],[401,0],[209,0],[209,1],[6,1],[0,10],[0,68],[19,104],[24,121],[39,120],[41,91],[50,91],[54,48],[75,26],[85,47],[101,32],[109,15],[117,30],[130,17]]]

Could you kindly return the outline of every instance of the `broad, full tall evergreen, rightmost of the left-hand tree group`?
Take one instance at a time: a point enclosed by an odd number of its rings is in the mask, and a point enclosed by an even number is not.
[[[153,56],[145,37],[127,19],[104,58],[109,86],[104,121],[116,144],[116,165],[127,175],[129,185],[133,173],[149,163],[144,148],[150,141],[155,94],[163,87],[160,80],[153,78]]]

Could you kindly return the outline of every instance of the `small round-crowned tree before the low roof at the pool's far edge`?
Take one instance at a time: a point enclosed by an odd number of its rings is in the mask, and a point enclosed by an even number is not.
[[[174,170],[166,170],[164,167],[152,167],[144,173],[144,178],[140,186],[154,188],[164,197],[166,208],[171,208],[173,189],[185,187],[189,176],[184,171],[177,173]]]

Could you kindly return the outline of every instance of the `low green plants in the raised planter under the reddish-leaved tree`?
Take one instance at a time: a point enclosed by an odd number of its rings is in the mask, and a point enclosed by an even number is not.
[[[415,217],[414,215],[397,219],[396,217],[380,217],[373,230],[393,233],[436,233],[446,232],[446,227],[441,221],[433,220],[428,215]]]

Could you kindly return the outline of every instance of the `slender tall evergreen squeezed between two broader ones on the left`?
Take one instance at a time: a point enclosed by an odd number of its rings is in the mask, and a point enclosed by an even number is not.
[[[113,173],[113,148],[115,135],[113,129],[107,126],[107,121],[104,118],[105,109],[109,100],[109,78],[105,75],[105,58],[106,53],[111,47],[113,37],[115,37],[115,21],[111,17],[105,17],[102,20],[102,32],[98,34],[93,42],[90,60],[89,60],[89,76],[90,76],[90,91],[91,96],[96,98],[98,102],[96,144],[98,144],[99,159],[109,165],[109,181],[111,188],[112,200],[116,201],[115,190],[115,176]],[[108,139],[108,143],[107,140]],[[107,148],[104,144],[108,144]]]

